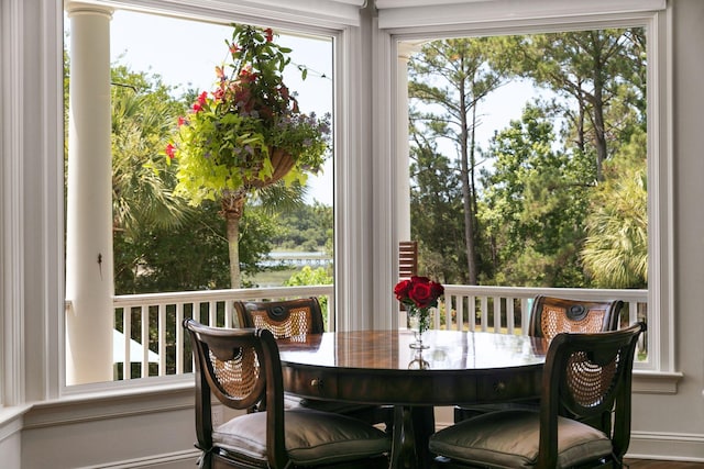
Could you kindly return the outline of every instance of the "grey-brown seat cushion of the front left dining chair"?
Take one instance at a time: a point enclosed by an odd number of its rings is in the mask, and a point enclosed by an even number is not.
[[[381,429],[311,409],[286,410],[285,433],[288,457],[299,466],[362,459],[391,450],[391,439]],[[266,412],[232,418],[213,429],[212,439],[229,453],[266,460]]]

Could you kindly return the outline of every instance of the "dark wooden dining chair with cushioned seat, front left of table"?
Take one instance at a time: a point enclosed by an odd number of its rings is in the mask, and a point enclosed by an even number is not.
[[[336,413],[284,410],[282,364],[268,330],[209,327],[191,319],[184,327],[194,350],[200,468],[388,466],[391,438],[381,429]],[[213,425],[211,395],[246,412]]]

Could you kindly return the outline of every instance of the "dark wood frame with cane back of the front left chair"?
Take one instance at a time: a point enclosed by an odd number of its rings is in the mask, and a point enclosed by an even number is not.
[[[218,328],[184,320],[194,348],[196,377],[196,447],[202,450],[199,467],[204,469],[294,469],[286,449],[284,378],[278,346],[268,330]],[[229,379],[218,376],[213,361],[223,366]],[[258,368],[258,371],[254,369]],[[215,395],[223,405],[248,413],[266,411],[266,466],[244,454],[233,454],[215,445],[212,438],[212,403]],[[351,456],[354,458],[355,456]],[[356,456],[359,458],[359,456]],[[386,455],[351,459],[324,467],[340,469],[381,469],[388,466]],[[321,466],[322,467],[322,466]]]

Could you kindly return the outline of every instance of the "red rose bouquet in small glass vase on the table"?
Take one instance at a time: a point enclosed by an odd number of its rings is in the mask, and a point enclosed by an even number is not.
[[[444,293],[444,287],[428,277],[414,276],[410,280],[399,281],[394,288],[396,299],[406,305],[408,319],[414,323],[417,322],[417,331],[414,330],[417,333],[416,348],[422,348],[420,336],[430,326],[429,310],[438,306],[438,299],[442,293]]]

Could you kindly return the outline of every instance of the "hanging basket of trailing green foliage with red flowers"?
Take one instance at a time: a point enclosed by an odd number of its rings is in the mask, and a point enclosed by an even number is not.
[[[178,161],[176,192],[194,205],[279,178],[305,183],[328,149],[329,118],[299,112],[283,80],[290,49],[274,42],[272,30],[235,24],[227,45],[231,62],[216,68],[215,91],[198,96],[165,146],[167,163]],[[280,175],[276,152],[293,159]]]

